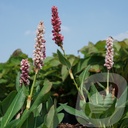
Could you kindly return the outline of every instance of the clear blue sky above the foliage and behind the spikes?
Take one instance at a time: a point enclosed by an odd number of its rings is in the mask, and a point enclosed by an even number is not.
[[[108,36],[128,38],[128,0],[0,0],[0,62],[20,48],[33,57],[37,25],[45,25],[46,55],[58,48],[52,41],[51,7],[57,6],[62,21],[64,49],[77,51],[89,41]]]

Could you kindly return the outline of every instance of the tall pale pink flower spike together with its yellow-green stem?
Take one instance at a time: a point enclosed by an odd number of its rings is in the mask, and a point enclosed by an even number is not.
[[[29,109],[31,105],[31,98],[34,90],[34,85],[36,82],[36,77],[38,71],[42,68],[43,66],[43,61],[46,58],[46,48],[45,48],[45,39],[44,39],[44,23],[40,22],[37,28],[37,34],[36,34],[36,43],[35,43],[35,50],[33,53],[33,63],[35,67],[35,76],[33,80],[33,84],[31,86],[30,94],[27,99],[27,105],[26,108]]]

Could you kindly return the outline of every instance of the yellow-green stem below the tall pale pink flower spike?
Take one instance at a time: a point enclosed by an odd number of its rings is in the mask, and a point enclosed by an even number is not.
[[[34,85],[36,83],[37,73],[38,73],[38,70],[35,71],[34,80],[33,80],[32,86],[31,86],[30,94],[28,95],[28,98],[27,98],[26,109],[29,109],[31,106],[32,94],[33,94],[33,90],[34,90]]]

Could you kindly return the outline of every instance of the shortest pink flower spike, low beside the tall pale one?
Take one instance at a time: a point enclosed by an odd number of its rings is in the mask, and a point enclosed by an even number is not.
[[[22,86],[22,84],[24,85],[29,85],[30,81],[29,81],[29,67],[30,64],[28,62],[27,59],[22,59],[21,61],[21,75],[20,75],[20,85]]]

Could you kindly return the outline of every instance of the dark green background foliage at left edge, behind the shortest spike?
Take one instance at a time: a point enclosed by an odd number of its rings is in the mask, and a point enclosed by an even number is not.
[[[0,100],[15,90],[16,76],[20,71],[20,61],[24,58],[28,58],[28,56],[17,49],[7,62],[0,63]],[[30,58],[29,60],[32,62]]]

